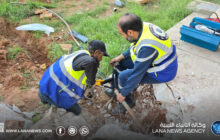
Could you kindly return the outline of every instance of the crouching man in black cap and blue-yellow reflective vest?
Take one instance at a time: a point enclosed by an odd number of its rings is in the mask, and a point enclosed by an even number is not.
[[[109,56],[99,40],[88,43],[87,50],[61,56],[40,80],[39,97],[44,104],[54,104],[75,115],[81,112],[77,101],[90,92],[102,56]],[[85,95],[84,95],[85,94]]]

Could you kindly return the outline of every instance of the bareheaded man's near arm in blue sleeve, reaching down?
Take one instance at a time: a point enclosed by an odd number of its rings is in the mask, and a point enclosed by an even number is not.
[[[121,89],[122,96],[127,96],[137,87],[157,55],[158,53],[154,48],[142,47],[140,49],[126,85]]]

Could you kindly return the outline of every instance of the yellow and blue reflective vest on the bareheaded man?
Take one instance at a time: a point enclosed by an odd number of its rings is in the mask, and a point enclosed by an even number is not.
[[[178,64],[176,48],[167,34],[160,29],[160,27],[144,22],[143,31],[139,40],[136,44],[131,44],[130,47],[130,56],[133,62],[141,62],[141,59],[137,56],[139,50],[143,46],[152,47],[158,52],[157,58],[153,61],[152,67],[147,69],[147,72],[158,81],[172,80],[176,75]],[[171,70],[172,72],[170,69],[173,69]],[[159,74],[159,77],[157,73]]]

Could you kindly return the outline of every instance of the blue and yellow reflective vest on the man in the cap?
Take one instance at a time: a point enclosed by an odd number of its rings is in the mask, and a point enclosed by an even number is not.
[[[83,97],[86,89],[85,71],[75,71],[73,60],[80,54],[90,53],[86,50],[65,55],[52,64],[40,81],[40,92],[47,95],[58,106],[70,108]]]

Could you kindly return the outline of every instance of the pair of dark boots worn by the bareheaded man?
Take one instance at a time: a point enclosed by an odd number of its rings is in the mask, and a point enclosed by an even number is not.
[[[131,95],[128,95],[125,98],[125,102],[128,104],[128,106],[130,108],[133,108],[135,106],[135,102],[133,101]],[[118,103],[117,106],[112,110],[112,114],[116,115],[116,114],[123,114],[126,112],[125,107],[123,106],[122,103]]]

